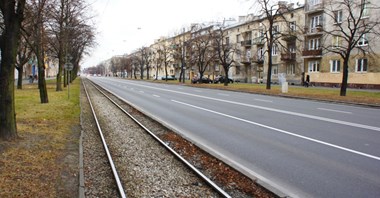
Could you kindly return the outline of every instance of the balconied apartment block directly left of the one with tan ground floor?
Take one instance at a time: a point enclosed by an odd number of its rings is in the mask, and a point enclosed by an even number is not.
[[[302,6],[280,2],[284,12],[273,24],[274,46],[267,50],[269,21],[262,16],[247,15],[239,23],[228,27],[229,40],[237,44],[232,77],[247,83],[262,83],[267,80],[268,53],[272,54],[272,83],[278,83],[279,75],[291,84],[300,84],[303,59],[299,55],[303,41],[300,24],[303,23]]]

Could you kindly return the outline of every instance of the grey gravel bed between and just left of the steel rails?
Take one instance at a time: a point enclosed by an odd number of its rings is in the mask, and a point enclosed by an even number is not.
[[[92,85],[86,88],[128,197],[220,197]],[[99,135],[95,130],[87,131],[94,124],[84,118],[88,117],[84,110],[90,111],[85,106],[83,102],[85,194],[117,197],[115,182],[110,181],[111,170],[100,150],[103,148],[98,146]]]

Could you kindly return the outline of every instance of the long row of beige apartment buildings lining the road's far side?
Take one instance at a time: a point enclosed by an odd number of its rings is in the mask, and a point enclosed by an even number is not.
[[[351,10],[344,8],[345,3],[352,3]],[[380,2],[371,3],[380,6]],[[349,19],[349,13],[355,17],[362,13],[359,17],[362,24],[377,21],[378,27],[371,31],[380,32],[380,10],[371,10],[369,5],[367,0],[306,0],[305,5],[279,1],[277,9],[282,11],[273,23],[274,44],[270,52],[267,50],[269,20],[253,14],[241,16],[237,23],[224,28],[226,42],[234,46],[234,63],[229,77],[241,82],[265,83],[271,53],[272,83],[279,83],[280,78],[285,77],[289,84],[301,85],[307,78],[312,85],[339,87],[343,78],[343,58],[336,51],[347,48],[345,35],[351,27],[345,20]],[[158,39],[150,46],[156,56],[151,65],[151,77],[164,76],[166,67],[168,75],[178,78],[183,63],[186,64],[186,79],[198,75],[199,68],[191,61],[190,53],[194,48],[191,42],[220,24],[193,24],[187,31]],[[380,41],[371,31],[355,35],[361,38],[349,56],[349,87],[380,88]],[[217,60],[204,71],[211,79],[223,74]]]

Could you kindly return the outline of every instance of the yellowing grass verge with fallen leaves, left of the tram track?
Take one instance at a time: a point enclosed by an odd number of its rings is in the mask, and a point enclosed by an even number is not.
[[[36,83],[15,91],[19,138],[0,141],[0,197],[73,195],[65,188],[75,186],[67,182],[75,183],[78,173],[72,164],[78,160],[79,85],[80,79],[70,85],[68,99],[67,87],[57,92],[55,81],[47,81],[47,104],[40,103]]]

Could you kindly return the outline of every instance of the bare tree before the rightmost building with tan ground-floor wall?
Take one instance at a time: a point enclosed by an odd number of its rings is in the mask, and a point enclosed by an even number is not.
[[[377,3],[371,3],[377,2]],[[343,59],[343,77],[340,95],[346,96],[351,55],[369,57],[380,36],[380,11],[378,1],[341,0],[326,2],[325,14],[331,29],[324,29],[325,52],[339,55]],[[372,13],[373,15],[370,15]],[[366,69],[367,62],[359,62],[360,69]]]

